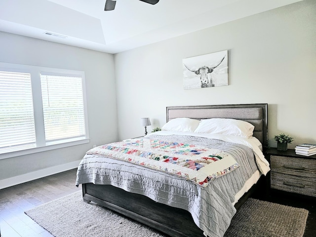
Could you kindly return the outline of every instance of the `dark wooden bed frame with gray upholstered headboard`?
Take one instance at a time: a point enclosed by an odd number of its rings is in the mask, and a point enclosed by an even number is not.
[[[235,118],[252,123],[254,137],[268,148],[267,104],[167,107],[167,121],[173,118]],[[235,204],[236,209],[255,191],[254,185]],[[191,214],[158,203],[149,197],[126,192],[111,185],[82,184],[83,200],[96,202],[171,237],[204,237]]]

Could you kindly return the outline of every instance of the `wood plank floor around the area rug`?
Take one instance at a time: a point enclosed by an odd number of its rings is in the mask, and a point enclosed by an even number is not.
[[[1,237],[53,237],[24,211],[81,190],[75,186],[76,171],[72,169],[0,190]],[[304,237],[316,236],[315,200],[276,194],[269,201],[309,210]]]

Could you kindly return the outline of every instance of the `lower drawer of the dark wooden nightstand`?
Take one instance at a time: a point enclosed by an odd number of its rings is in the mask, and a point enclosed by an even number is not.
[[[316,197],[316,179],[271,172],[271,188]]]

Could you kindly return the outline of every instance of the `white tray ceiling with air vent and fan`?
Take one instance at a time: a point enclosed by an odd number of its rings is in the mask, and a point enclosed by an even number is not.
[[[0,0],[0,31],[118,53],[301,0]]]

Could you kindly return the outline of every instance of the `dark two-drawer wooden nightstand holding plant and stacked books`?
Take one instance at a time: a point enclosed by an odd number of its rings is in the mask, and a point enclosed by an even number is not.
[[[271,165],[271,189],[316,197],[316,155],[306,157],[296,155],[295,150],[271,148],[266,158]]]

